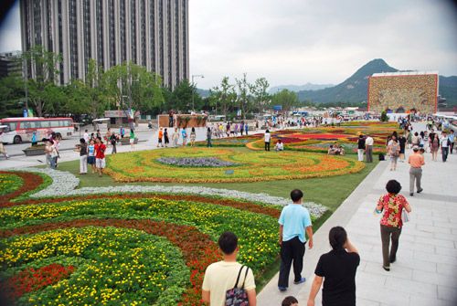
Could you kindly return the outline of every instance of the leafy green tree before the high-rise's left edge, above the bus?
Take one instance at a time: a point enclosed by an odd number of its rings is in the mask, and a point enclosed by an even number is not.
[[[34,79],[28,79],[30,77],[28,75],[26,79],[29,106],[31,104],[35,108],[38,117],[44,113],[53,112],[56,101],[48,101],[52,98],[49,90],[56,91],[52,85],[58,78],[56,67],[62,60],[61,57],[45,50],[42,46],[35,46],[24,52],[19,60],[26,64],[27,70],[31,69],[35,72]]]

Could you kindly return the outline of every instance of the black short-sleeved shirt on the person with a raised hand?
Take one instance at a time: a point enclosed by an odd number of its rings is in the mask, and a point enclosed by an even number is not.
[[[360,256],[345,249],[331,250],[321,256],[314,273],[324,278],[324,306],[356,305],[356,270],[359,264]]]

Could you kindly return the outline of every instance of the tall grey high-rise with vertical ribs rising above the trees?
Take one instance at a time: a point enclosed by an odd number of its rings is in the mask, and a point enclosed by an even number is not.
[[[174,88],[189,77],[188,0],[20,0],[22,49],[62,55],[59,82],[133,61]],[[29,70],[33,77],[33,70]]]

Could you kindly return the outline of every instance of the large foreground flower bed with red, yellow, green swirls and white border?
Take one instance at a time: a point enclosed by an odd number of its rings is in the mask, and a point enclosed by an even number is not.
[[[226,230],[256,277],[278,257],[286,199],[195,186],[74,189],[72,174],[27,171],[0,172],[17,182],[0,198],[0,290],[17,305],[199,305]],[[325,211],[308,205],[314,220]]]

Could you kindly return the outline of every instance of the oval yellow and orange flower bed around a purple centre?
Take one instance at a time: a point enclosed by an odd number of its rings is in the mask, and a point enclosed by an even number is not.
[[[228,167],[163,164],[165,158],[218,158]],[[119,182],[227,183],[303,179],[362,170],[344,157],[295,152],[242,152],[229,148],[182,148],[119,153],[108,157],[107,174]],[[133,164],[133,165],[132,165]]]

